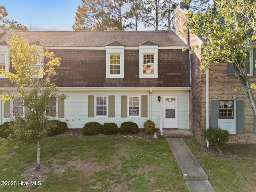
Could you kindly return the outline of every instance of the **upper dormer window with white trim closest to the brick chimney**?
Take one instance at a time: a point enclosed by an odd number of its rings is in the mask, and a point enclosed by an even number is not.
[[[158,78],[158,46],[139,46],[140,78]]]

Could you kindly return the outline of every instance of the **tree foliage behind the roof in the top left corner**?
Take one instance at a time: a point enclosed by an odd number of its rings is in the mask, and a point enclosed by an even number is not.
[[[28,28],[24,25],[18,24],[18,22],[7,19],[8,13],[4,6],[0,6],[0,26],[6,31],[27,31]]]

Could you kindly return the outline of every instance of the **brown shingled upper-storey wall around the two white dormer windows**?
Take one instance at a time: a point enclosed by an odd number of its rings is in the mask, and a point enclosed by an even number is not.
[[[59,87],[190,87],[189,55],[158,50],[158,78],[139,78],[139,50],[124,51],[124,78],[106,78],[105,50],[51,50],[60,57]]]

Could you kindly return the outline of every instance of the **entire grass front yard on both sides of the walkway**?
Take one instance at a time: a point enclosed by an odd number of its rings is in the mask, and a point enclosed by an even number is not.
[[[227,153],[224,148],[220,156],[214,148],[200,146],[194,138],[185,142],[217,192],[255,190],[255,152],[241,156]],[[34,145],[1,149],[0,181],[6,181],[6,185],[0,186],[0,191],[189,191],[167,140],[144,132],[85,137],[69,130],[42,141],[41,170],[36,172],[35,166]]]

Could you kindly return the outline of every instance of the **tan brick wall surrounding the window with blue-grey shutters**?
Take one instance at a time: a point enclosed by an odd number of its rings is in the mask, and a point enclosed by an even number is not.
[[[250,82],[256,82],[256,77],[249,77]],[[231,134],[230,143],[256,143],[253,129],[253,110],[246,93],[234,91],[241,87],[236,76],[227,76],[227,64],[212,64],[209,70],[209,100],[243,100],[244,101],[244,134]],[[254,96],[256,90],[252,90]],[[210,110],[210,109],[209,109]]]

